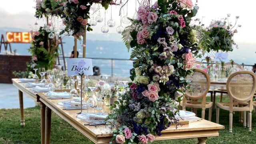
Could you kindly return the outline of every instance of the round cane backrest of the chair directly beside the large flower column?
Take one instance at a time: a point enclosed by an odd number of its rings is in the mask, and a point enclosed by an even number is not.
[[[186,90],[185,96],[198,100],[206,96],[209,91],[210,77],[204,70],[198,68],[193,68],[193,70],[194,74],[186,77],[186,80],[191,80],[191,82],[188,84],[190,88]]]

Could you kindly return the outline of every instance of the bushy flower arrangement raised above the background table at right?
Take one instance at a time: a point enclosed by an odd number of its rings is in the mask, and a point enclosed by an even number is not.
[[[235,33],[238,32],[237,28],[241,27],[241,25],[236,26],[239,16],[236,16],[236,22],[234,25],[232,25],[228,21],[229,17],[230,14],[228,14],[227,18],[224,18],[222,20],[214,20],[207,28],[209,36],[212,38],[210,46],[207,49],[208,52],[210,52],[210,50],[216,52],[233,51],[233,45],[236,45],[236,43],[233,40],[233,36]]]

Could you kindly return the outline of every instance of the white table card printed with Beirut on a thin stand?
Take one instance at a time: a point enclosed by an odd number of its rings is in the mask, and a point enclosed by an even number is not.
[[[79,72],[84,75],[93,75],[92,59],[90,58],[68,58],[68,76],[78,76]]]

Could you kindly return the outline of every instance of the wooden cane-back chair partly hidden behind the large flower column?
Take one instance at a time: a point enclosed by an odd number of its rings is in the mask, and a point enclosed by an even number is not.
[[[187,80],[191,80],[189,87],[186,90],[184,98],[181,102],[183,110],[186,107],[189,108],[202,108],[202,118],[205,116],[205,109],[209,108],[209,118],[212,118],[212,102],[206,102],[206,94],[210,88],[210,78],[209,75],[201,69],[194,68],[194,74],[188,75]],[[201,102],[198,100],[202,99]]]

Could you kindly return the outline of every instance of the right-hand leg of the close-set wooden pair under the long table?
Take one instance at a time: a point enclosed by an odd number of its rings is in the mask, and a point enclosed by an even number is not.
[[[52,110],[45,108],[45,144],[50,144]]]

